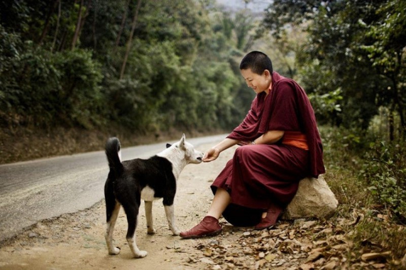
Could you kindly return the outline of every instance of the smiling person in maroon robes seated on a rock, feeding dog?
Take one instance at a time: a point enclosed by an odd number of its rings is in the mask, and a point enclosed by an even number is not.
[[[240,145],[213,182],[207,215],[184,239],[221,232],[221,215],[234,226],[265,229],[274,225],[295,195],[300,179],[325,172],[323,148],[309,98],[294,80],[273,71],[272,61],[259,51],[240,63],[241,75],[257,94],[243,122],[210,148],[210,162]]]

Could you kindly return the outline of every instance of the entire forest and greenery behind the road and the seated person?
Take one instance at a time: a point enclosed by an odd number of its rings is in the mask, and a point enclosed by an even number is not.
[[[254,97],[239,62],[261,50],[311,99],[339,215],[390,217],[352,237],[378,233],[404,255],[392,224],[406,222],[406,2],[275,0],[256,13],[213,0],[2,0],[0,12],[1,163],[101,150],[109,136],[228,132]]]

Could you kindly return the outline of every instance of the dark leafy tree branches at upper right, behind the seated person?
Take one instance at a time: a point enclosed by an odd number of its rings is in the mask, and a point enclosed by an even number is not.
[[[323,122],[367,129],[387,106],[404,133],[405,10],[397,0],[274,1],[263,22],[279,40],[291,28],[306,29],[307,43],[295,50],[300,82],[318,95],[342,90],[340,114],[326,114]]]

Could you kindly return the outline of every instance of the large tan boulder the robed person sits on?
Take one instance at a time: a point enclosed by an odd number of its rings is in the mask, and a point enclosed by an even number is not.
[[[286,207],[281,219],[328,218],[334,214],[339,202],[322,175],[300,180],[296,195]]]

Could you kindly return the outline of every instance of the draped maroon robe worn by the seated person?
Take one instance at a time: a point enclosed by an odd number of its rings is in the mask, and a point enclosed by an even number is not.
[[[256,225],[263,210],[284,207],[300,179],[323,174],[323,148],[316,117],[306,92],[293,80],[272,74],[272,90],[257,94],[243,122],[227,138],[253,141],[268,130],[300,131],[309,150],[282,144],[245,145],[235,150],[213,182],[231,196],[224,218],[236,226]]]

